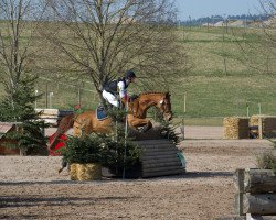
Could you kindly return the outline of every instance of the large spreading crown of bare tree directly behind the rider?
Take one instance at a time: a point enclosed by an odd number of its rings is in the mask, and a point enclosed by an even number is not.
[[[47,40],[97,92],[126,69],[145,86],[174,81],[185,64],[169,0],[47,0]],[[159,89],[159,88],[158,88]]]

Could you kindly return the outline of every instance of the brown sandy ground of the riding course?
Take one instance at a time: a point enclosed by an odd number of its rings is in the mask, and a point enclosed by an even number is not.
[[[0,219],[187,219],[234,215],[233,172],[256,166],[266,140],[222,140],[222,128],[187,127],[187,174],[72,182],[61,157],[0,156]]]

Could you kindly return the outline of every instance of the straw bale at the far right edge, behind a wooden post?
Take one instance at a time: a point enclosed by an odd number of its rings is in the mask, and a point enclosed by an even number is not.
[[[250,125],[257,127],[259,123],[258,122],[259,118],[262,120],[263,133],[267,138],[275,138],[276,136],[276,117],[265,116],[265,114],[254,114],[250,119]]]

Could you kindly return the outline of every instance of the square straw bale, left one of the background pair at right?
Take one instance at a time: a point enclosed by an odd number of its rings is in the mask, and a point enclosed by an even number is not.
[[[223,139],[247,139],[248,118],[227,117],[223,119]]]

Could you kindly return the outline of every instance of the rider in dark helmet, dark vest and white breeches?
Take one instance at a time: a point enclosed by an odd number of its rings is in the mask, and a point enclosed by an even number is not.
[[[106,99],[110,105],[119,108],[120,101],[118,99],[124,98],[125,101],[128,99],[127,87],[130,82],[135,81],[135,73],[132,70],[127,70],[123,78],[106,84],[103,90],[104,99]]]

